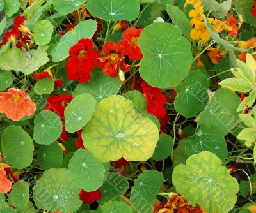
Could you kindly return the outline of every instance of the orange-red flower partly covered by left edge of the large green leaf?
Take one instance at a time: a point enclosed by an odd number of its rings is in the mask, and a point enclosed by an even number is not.
[[[129,59],[137,61],[143,58],[143,54],[138,46],[138,38],[143,31],[143,28],[136,29],[135,27],[129,27],[122,34],[124,40],[118,42],[119,45],[124,47],[124,55],[128,55]]]

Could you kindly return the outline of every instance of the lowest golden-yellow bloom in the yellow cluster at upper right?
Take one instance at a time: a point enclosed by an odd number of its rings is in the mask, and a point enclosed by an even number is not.
[[[201,41],[208,41],[211,34],[207,30],[204,22],[196,22],[195,28],[191,30],[190,36],[193,40],[201,39]]]

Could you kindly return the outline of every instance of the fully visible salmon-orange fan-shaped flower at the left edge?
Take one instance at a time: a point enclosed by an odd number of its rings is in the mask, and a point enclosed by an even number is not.
[[[0,92],[0,113],[6,114],[8,119],[19,121],[32,115],[35,110],[36,104],[24,91],[10,88],[7,92]]]

